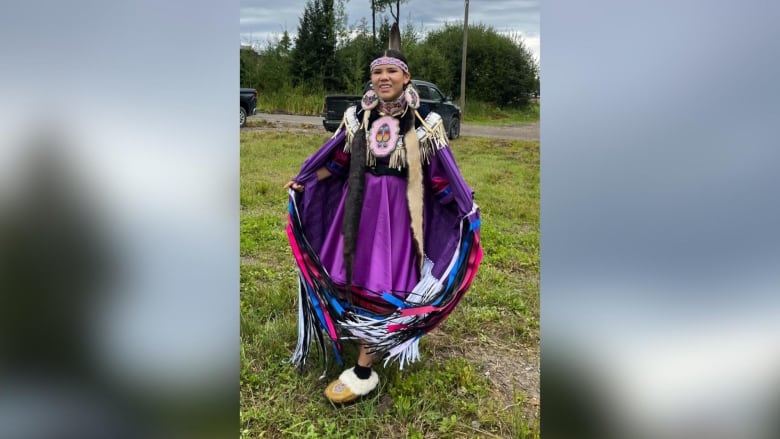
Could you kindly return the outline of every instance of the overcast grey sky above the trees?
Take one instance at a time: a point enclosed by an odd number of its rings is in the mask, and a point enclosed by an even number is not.
[[[306,0],[241,0],[241,43],[263,46],[285,29],[293,36],[305,7]],[[465,0],[410,0],[401,4],[401,29],[410,13],[415,28],[425,32],[441,28],[445,22],[463,22],[464,9]],[[370,26],[370,0],[349,0],[346,11],[349,25],[366,17]],[[470,0],[469,23],[483,23],[500,33],[520,34],[525,46],[540,59],[539,0]]]

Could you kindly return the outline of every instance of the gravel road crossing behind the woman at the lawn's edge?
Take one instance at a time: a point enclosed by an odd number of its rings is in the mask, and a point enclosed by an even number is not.
[[[325,130],[322,127],[322,118],[319,116],[297,116],[292,114],[268,114],[258,113],[249,116],[248,121],[265,120],[274,124],[274,127],[294,127],[304,130]],[[252,129],[252,128],[245,128]],[[532,122],[514,126],[485,126],[464,123],[460,127],[463,136],[494,137],[501,139],[539,140],[539,122]]]

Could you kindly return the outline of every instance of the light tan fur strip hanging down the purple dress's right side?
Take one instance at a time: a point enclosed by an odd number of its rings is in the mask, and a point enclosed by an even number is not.
[[[417,258],[420,263],[418,267],[422,270],[423,264],[423,175],[422,158],[420,157],[420,142],[417,140],[417,132],[414,130],[414,116],[412,116],[411,127],[404,134],[404,144],[406,145],[406,159],[409,167],[409,180],[406,186],[406,200],[409,204],[409,216],[411,218],[412,238],[417,244]]]

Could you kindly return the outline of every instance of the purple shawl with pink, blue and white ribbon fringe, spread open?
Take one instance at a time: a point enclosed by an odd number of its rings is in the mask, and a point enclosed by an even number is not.
[[[385,355],[385,364],[397,359],[403,368],[405,363],[416,361],[420,337],[452,312],[471,285],[482,259],[479,207],[455,164],[441,117],[428,113],[416,129],[425,249],[420,281],[404,301],[389,294],[383,296],[394,309],[391,313],[377,315],[357,307],[350,309],[318,258],[343,196],[345,181],[318,181],[316,172],[325,166],[336,148],[349,151],[350,140],[360,127],[360,116],[355,107],[345,113],[333,137],[304,162],[294,178],[304,185],[305,191],[290,190],[287,233],[299,272],[298,345],[291,361],[298,366],[305,364],[311,342],[317,340],[327,368],[323,333],[330,339],[339,364],[343,340],[362,340],[369,350]],[[434,154],[454,196],[446,205],[435,199],[430,184],[429,164]]]

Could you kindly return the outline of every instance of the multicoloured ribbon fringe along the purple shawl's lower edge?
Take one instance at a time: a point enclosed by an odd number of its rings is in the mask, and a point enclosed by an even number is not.
[[[406,300],[385,293],[380,302],[352,306],[330,280],[330,276],[306,240],[299,219],[296,194],[290,191],[287,236],[298,265],[298,344],[290,361],[303,367],[313,341],[328,368],[325,335],[330,339],[336,361],[341,359],[343,340],[361,340],[369,351],[385,356],[385,365],[398,360],[399,367],[419,360],[420,338],[439,326],[471,286],[482,260],[479,241],[479,209],[476,205],[461,221],[458,250],[440,279],[431,274],[433,263],[423,264],[420,282]],[[386,312],[382,312],[385,310]],[[325,374],[323,371],[323,376]]]

